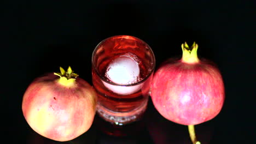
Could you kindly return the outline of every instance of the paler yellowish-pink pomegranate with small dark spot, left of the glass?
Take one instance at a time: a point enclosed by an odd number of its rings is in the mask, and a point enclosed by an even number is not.
[[[34,80],[26,89],[22,112],[30,127],[55,141],[69,141],[85,133],[96,112],[96,92],[71,67]],[[58,77],[60,76],[60,77]]]

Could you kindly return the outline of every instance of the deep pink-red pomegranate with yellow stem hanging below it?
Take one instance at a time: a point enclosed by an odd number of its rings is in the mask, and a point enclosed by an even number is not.
[[[151,97],[156,110],[166,119],[188,125],[193,143],[194,125],[216,117],[225,93],[216,64],[197,57],[198,45],[182,44],[182,58],[170,58],[160,65],[153,78]]]

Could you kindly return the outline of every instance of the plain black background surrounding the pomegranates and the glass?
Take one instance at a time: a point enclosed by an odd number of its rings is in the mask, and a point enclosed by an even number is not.
[[[152,47],[156,68],[168,57],[181,55],[184,41],[190,45],[196,41],[199,56],[219,66],[226,91],[219,115],[196,126],[199,140],[255,142],[255,2],[8,1],[1,6],[2,141],[58,143],[37,135],[26,123],[21,102],[27,86],[34,78],[68,65],[91,83],[95,46],[126,34]],[[144,125],[142,129],[132,129],[139,131],[135,136],[108,136],[98,129],[102,122],[97,121],[96,117],[88,133],[67,143],[189,143],[187,128],[161,117],[151,102],[138,124]]]

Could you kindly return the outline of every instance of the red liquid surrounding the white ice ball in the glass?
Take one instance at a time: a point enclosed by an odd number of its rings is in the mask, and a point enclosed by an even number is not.
[[[143,41],[119,39],[107,42],[103,43],[104,49],[96,51],[97,56],[93,59],[96,62],[92,65],[92,82],[98,95],[97,113],[108,122],[123,125],[137,121],[146,110],[150,82],[153,78],[154,56],[150,58],[149,54],[152,53],[150,49],[145,49],[147,45]],[[138,91],[129,95],[115,93],[103,84],[103,81],[110,82],[105,76],[109,63],[125,53],[133,53],[137,56],[140,69],[139,80],[141,80],[125,87],[142,86]],[[109,84],[115,86],[114,83]]]

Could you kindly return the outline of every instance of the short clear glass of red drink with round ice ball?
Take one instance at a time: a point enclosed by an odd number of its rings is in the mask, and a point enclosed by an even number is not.
[[[144,41],[129,35],[101,41],[92,53],[98,115],[118,125],[141,118],[154,68],[154,53]]]

